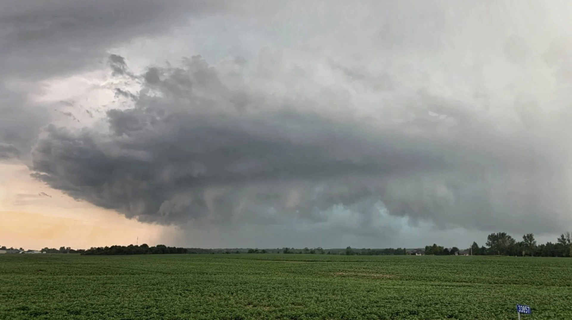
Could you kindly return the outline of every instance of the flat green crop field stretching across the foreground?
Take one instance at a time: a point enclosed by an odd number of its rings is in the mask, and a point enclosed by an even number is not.
[[[572,319],[572,259],[0,256],[0,319]]]

